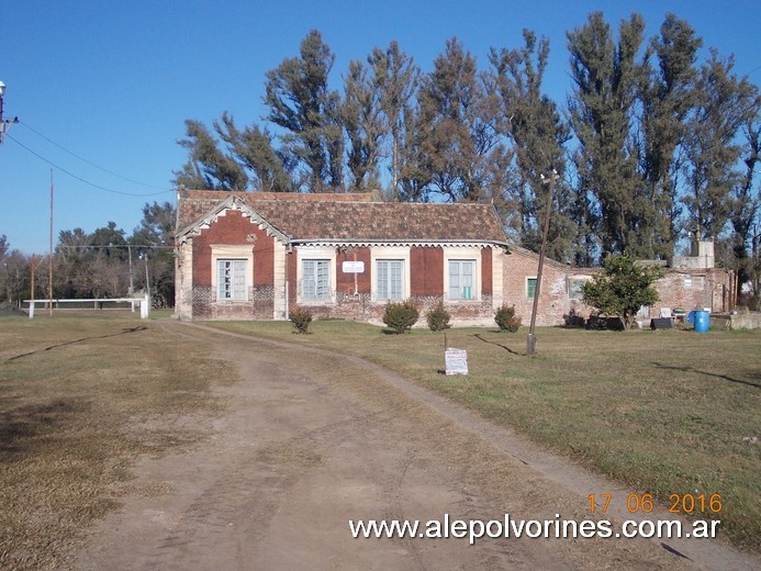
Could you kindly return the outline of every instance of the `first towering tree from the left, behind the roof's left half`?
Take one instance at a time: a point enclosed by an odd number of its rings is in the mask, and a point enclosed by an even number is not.
[[[329,89],[335,55],[312,30],[300,55],[267,72],[267,120],[286,130],[284,149],[304,169],[303,188],[313,192],[343,188],[344,138],[340,96]]]

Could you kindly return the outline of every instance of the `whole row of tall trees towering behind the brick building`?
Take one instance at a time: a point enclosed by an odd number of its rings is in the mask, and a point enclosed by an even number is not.
[[[317,30],[265,78],[266,113],[188,120],[176,182],[219,190],[382,191],[399,201],[492,201],[516,244],[537,249],[547,187],[560,177],[548,254],[596,265],[611,254],[665,260],[691,238],[751,278],[761,195],[761,97],[731,55],[667,14],[652,37],[636,13],[602,12],[568,31],[566,52],[525,30],[480,63],[449,38],[423,72],[396,42],[333,75]],[[569,60],[569,96],[544,82]],[[756,288],[761,284],[754,281]]]

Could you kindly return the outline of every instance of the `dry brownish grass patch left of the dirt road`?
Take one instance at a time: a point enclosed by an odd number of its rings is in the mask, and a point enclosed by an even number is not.
[[[221,369],[135,317],[0,320],[0,568],[60,569],[136,489],[141,455],[198,441]]]

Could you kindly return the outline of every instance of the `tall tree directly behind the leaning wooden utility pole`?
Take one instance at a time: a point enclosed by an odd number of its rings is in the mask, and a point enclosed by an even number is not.
[[[549,60],[549,41],[537,41],[534,32],[524,30],[521,49],[492,49],[490,60],[496,75],[503,100],[506,132],[513,141],[517,177],[506,189],[506,205],[516,212],[515,239],[538,250],[547,210],[549,187],[542,177],[552,170],[560,175],[550,214],[547,253],[555,259],[570,256],[573,228],[568,217],[567,184],[563,181],[566,158],[563,145],[570,128],[562,120],[556,103],[541,93],[541,82]]]

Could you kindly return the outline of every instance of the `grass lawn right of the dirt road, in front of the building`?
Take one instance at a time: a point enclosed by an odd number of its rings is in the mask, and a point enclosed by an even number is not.
[[[316,321],[215,323],[260,337],[357,355],[443,393],[582,464],[650,493],[720,494],[724,534],[759,551],[761,536],[761,332],[539,328],[447,331],[468,351],[468,377],[446,377],[444,334]],[[743,440],[743,438],[746,438]],[[591,491],[593,493],[594,491]]]

